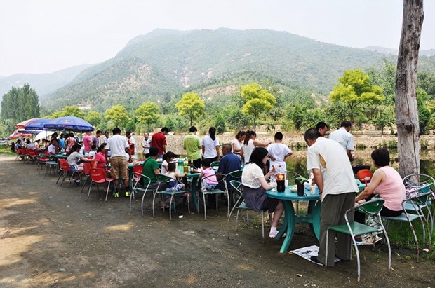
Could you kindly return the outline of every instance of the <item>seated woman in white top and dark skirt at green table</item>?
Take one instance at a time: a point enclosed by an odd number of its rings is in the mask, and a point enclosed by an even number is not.
[[[274,213],[272,227],[270,228],[269,237],[275,238],[279,231],[276,230],[279,218],[283,214],[283,203],[274,198],[266,196],[266,191],[276,187],[276,183],[267,183],[270,175],[274,174],[275,167],[272,167],[267,174],[263,174],[262,167],[266,165],[269,153],[265,148],[257,147],[250,154],[248,165],[245,166],[241,174],[241,183],[243,184],[243,196],[245,203],[258,212],[260,210]]]

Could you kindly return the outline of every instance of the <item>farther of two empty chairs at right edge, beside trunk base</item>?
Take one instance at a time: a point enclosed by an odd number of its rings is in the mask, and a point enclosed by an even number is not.
[[[435,199],[435,180],[433,177],[427,174],[410,174],[403,178],[403,184],[407,191],[418,191],[418,193],[427,193],[431,191],[432,196],[427,203],[420,203],[419,205],[411,205],[411,203],[405,204],[405,209],[410,212],[416,212],[415,208],[419,210],[427,210],[427,215],[424,215],[424,221],[429,225],[429,232],[434,232],[434,212],[431,212],[431,206],[434,206]]]

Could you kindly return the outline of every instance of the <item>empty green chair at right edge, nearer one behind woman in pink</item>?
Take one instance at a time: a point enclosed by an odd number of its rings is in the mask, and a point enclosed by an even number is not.
[[[426,231],[425,231],[425,225],[424,225],[424,214],[422,213],[421,209],[417,209],[417,205],[420,205],[421,203],[427,203],[429,200],[429,197],[431,196],[431,192],[427,193],[419,193],[416,196],[410,197],[408,199],[403,200],[402,207],[403,207],[403,213],[396,217],[387,217],[382,216],[382,219],[386,219],[386,226],[388,228],[389,221],[399,221],[399,222],[408,222],[411,231],[413,232],[414,240],[415,240],[415,246],[417,249],[417,261],[420,257],[420,249],[418,245],[418,239],[417,234],[415,233],[414,227],[413,227],[413,221],[416,219],[420,219],[422,223],[422,231],[423,231],[423,245],[426,241]],[[409,210],[406,210],[406,203],[411,203],[411,205],[415,205],[415,212],[416,214],[410,213]],[[428,233],[429,235],[429,249],[431,246],[431,233]]]

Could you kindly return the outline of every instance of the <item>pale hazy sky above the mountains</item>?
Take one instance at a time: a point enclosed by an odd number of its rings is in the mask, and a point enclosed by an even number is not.
[[[273,29],[343,46],[399,48],[403,1],[0,0],[0,75],[47,73],[112,58],[156,28]],[[421,49],[435,48],[435,0]]]

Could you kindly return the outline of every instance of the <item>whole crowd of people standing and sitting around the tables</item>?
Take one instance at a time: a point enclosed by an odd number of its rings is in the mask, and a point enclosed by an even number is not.
[[[321,210],[321,231],[319,254],[312,261],[323,265],[333,266],[334,257],[343,261],[351,258],[351,238],[340,233],[329,233],[328,242],[335,243],[326,247],[326,229],[328,226],[344,224],[345,212],[355,203],[368,200],[374,194],[385,200],[382,215],[396,216],[401,214],[401,202],[406,197],[405,187],[401,177],[394,168],[389,166],[390,158],[387,149],[376,149],[371,157],[377,170],[373,174],[368,186],[359,196],[351,162],[356,158],[354,155],[354,137],[350,133],[352,123],[343,121],[340,128],[334,132],[328,132],[328,125],[319,122],[315,128],[304,132],[304,140],[307,143],[307,174],[319,188]],[[144,133],[142,148],[144,161],[142,174],[150,183],[150,188],[156,188],[156,175],[165,174],[174,179],[166,187],[177,191],[184,190],[187,186],[185,172],[175,170],[174,160],[178,158],[172,151],[167,151],[166,135],[168,128],[163,127],[151,137]],[[280,200],[269,198],[266,191],[276,186],[276,170],[283,167],[286,170],[286,158],[292,155],[290,147],[283,144],[283,133],[276,132],[274,141],[257,141],[255,131],[239,131],[231,143],[221,144],[216,135],[216,129],[210,127],[208,134],[199,137],[195,126],[189,128],[189,133],[182,140],[187,160],[200,170],[199,182],[203,188],[224,188],[219,186],[219,175],[242,170],[241,184],[246,205],[255,211],[267,210],[274,212],[269,237],[274,238],[278,231],[279,219],[283,214],[283,203]],[[114,128],[112,136],[109,132],[104,133],[100,139],[101,131],[95,135],[86,132],[83,139],[79,139],[74,133],[57,133],[50,140],[42,139],[41,142],[31,142],[30,139],[18,140],[12,149],[27,148],[46,151],[48,155],[56,155],[60,151],[67,153],[67,163],[72,172],[81,173],[81,163],[91,162],[93,167],[107,167],[110,158],[109,175],[116,180],[115,183],[123,184],[125,196],[131,196],[128,179],[128,163],[137,156],[138,147],[131,131],[121,135],[121,129]],[[328,137],[327,137],[328,136]],[[93,156],[93,159],[84,157]],[[213,170],[211,163],[220,161],[217,171]],[[161,162],[161,165],[159,165]],[[161,166],[161,167],[160,167]],[[214,176],[213,176],[214,175]],[[74,179],[79,183],[79,177]],[[185,195],[188,197],[188,193]],[[114,197],[119,193],[114,191]],[[215,197],[208,198],[208,206],[215,206]],[[165,203],[162,207],[166,207]],[[353,221],[353,215],[349,221]],[[355,216],[356,221],[364,221],[361,215]],[[328,249],[328,259],[326,259]]]

